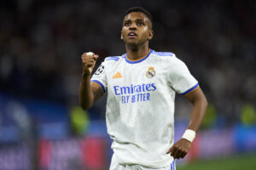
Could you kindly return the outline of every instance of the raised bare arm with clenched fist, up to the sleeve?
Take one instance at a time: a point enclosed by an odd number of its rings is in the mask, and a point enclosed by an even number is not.
[[[82,58],[83,74],[79,87],[79,102],[84,110],[90,109],[97,99],[100,99],[102,89],[94,82],[90,82],[91,73],[98,59],[97,54],[84,53]]]

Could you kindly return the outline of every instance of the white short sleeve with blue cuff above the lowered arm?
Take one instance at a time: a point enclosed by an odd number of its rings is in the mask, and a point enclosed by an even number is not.
[[[169,68],[169,82],[178,94],[188,95],[199,88],[197,80],[190,74],[187,65],[176,56],[173,56]]]

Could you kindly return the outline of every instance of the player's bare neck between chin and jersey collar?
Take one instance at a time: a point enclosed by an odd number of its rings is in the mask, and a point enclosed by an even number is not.
[[[131,47],[127,44],[125,45],[127,58],[130,60],[142,59],[148,54],[149,48],[148,44],[145,44],[141,47]]]

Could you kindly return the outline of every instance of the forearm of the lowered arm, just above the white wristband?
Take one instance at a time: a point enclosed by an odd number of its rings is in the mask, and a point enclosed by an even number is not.
[[[207,99],[201,98],[195,100],[193,104],[193,109],[191,111],[189,127],[188,129],[194,130],[195,132],[201,127],[201,122],[204,119],[207,110]]]

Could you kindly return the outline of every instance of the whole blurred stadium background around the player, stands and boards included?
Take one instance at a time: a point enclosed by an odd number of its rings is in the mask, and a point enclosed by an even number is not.
[[[150,47],[183,59],[210,104],[177,169],[256,169],[256,1],[3,0],[0,170],[108,169],[106,97],[79,107],[80,56],[124,54],[132,6],[153,14]],[[176,100],[177,140],[191,105]]]

